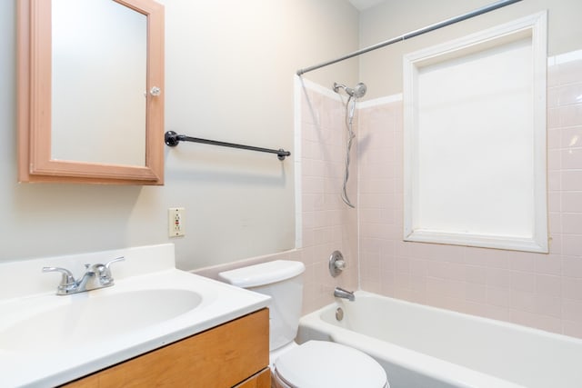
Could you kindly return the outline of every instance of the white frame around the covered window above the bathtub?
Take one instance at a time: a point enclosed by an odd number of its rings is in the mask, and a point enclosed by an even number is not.
[[[419,142],[422,131],[419,120],[418,95],[423,84],[419,71],[429,65],[447,65],[459,57],[471,55],[487,48],[507,45],[518,39],[530,37],[532,58],[531,87],[533,101],[533,128],[528,139],[533,144],[533,165],[527,167],[523,174],[532,174],[533,193],[527,198],[533,204],[531,225],[527,234],[512,235],[503,231],[497,233],[480,233],[464,229],[464,225],[423,224],[419,207],[420,187],[426,176],[419,170]],[[404,57],[404,240],[437,244],[459,244],[518,251],[548,252],[547,235],[547,12],[540,12],[516,21],[499,25],[473,35],[436,45],[405,55]],[[445,91],[446,93],[446,91]],[[426,120],[425,120],[426,122]],[[426,123],[424,125],[427,125]],[[528,134],[529,135],[529,134]],[[532,143],[533,141],[533,143]],[[454,138],[451,137],[451,142]],[[424,146],[426,147],[424,142]],[[454,146],[454,144],[452,144]],[[426,148],[423,149],[426,151]],[[461,161],[462,163],[462,161]],[[489,163],[489,161],[487,161]],[[495,164],[495,155],[490,163]],[[447,174],[447,172],[443,172]],[[434,178],[434,176],[432,177]],[[478,175],[475,179],[479,179]],[[482,200],[486,200],[483,198]],[[441,203],[435,204],[442,205]],[[423,206],[426,203],[423,202]],[[452,209],[453,210],[453,209]]]

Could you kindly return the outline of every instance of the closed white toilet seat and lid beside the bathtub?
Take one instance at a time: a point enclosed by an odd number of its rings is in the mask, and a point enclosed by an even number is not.
[[[281,354],[273,378],[281,387],[389,388],[379,363],[354,348],[308,341]]]

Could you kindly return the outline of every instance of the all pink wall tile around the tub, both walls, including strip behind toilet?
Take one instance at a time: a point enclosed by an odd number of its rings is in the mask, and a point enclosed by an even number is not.
[[[344,104],[324,88],[303,85],[296,149],[302,248],[198,273],[216,277],[243,264],[299,260],[306,264],[303,313],[331,303],[336,285],[358,288],[359,277],[366,291],[582,338],[582,60],[553,62],[547,93],[550,254],[402,241],[400,96],[366,102],[357,112],[348,194],[354,201],[357,194],[358,205],[348,208],[339,196]],[[327,260],[336,249],[348,268],[334,279]]]

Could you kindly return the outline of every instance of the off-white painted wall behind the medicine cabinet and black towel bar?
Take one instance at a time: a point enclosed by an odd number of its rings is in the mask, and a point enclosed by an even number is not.
[[[337,0],[166,5],[166,130],[292,153],[293,75],[357,48],[358,13]],[[162,187],[17,184],[15,0],[0,3],[0,261],[176,243],[184,269],[293,247],[293,160],[206,144],[166,148]],[[357,61],[308,77],[354,84]],[[186,207],[186,237],[167,208]]]

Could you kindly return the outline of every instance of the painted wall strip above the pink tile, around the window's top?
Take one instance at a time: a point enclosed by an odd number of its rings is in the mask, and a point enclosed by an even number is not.
[[[491,0],[386,0],[360,16],[360,45],[366,47],[432,25],[494,2]],[[548,10],[548,55],[580,48],[582,2],[526,0],[485,15],[398,42],[360,56],[360,78],[368,85],[366,99],[402,92],[402,55],[460,36],[501,25],[525,15]]]

